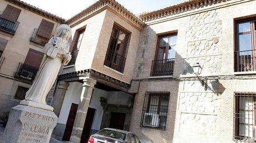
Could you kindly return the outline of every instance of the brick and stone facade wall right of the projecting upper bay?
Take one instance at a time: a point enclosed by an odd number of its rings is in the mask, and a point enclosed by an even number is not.
[[[234,22],[255,17],[256,3],[237,0],[221,2],[216,7],[198,8],[201,10],[180,17],[170,16],[147,22],[137,53],[134,76],[143,84],[135,95],[131,131],[148,142],[235,142],[234,93],[255,92],[256,77],[255,74],[234,73]],[[178,32],[173,78],[149,78],[157,37],[173,32]],[[198,62],[203,67],[200,76],[208,77],[211,90],[205,90],[195,78],[192,67]],[[159,83],[159,80],[169,82],[170,86],[163,89],[165,82]],[[179,88],[172,83],[174,80],[179,80]],[[139,127],[141,103],[145,97],[143,91],[170,89],[177,97],[176,109],[168,114],[168,118],[175,119],[168,119],[166,131]],[[171,137],[164,136],[166,133]]]

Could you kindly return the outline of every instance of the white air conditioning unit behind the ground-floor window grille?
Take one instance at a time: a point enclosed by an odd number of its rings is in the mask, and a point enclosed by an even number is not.
[[[156,113],[145,113],[143,119],[143,126],[158,127],[159,115]]]

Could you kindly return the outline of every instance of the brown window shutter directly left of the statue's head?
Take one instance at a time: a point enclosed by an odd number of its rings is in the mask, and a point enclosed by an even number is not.
[[[45,19],[42,20],[40,27],[38,28],[37,35],[43,38],[50,39],[54,23],[48,22]]]

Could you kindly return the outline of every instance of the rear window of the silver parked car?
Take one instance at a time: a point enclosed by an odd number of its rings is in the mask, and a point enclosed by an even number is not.
[[[107,130],[107,129],[100,130],[96,134],[102,135],[102,136],[107,136],[107,137],[113,137],[115,139],[119,139],[119,140],[123,140],[123,141],[125,140],[125,137],[126,137],[126,134],[123,132]]]

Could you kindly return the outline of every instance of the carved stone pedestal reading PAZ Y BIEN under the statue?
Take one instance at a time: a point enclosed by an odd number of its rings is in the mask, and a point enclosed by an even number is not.
[[[2,142],[49,142],[57,119],[52,111],[26,105],[14,106]]]

